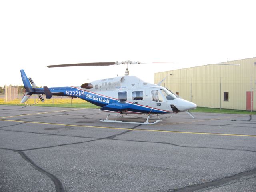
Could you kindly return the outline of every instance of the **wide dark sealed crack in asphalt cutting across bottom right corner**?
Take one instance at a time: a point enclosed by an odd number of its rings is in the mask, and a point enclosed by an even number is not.
[[[216,179],[211,182],[186,186],[186,187],[183,187],[180,189],[175,189],[175,190],[168,190],[167,192],[194,192],[194,191],[201,190],[201,189],[207,188],[207,187],[217,187],[222,184],[228,183],[232,180],[238,180],[238,179],[241,179],[242,177],[250,176],[253,174],[256,174],[256,168],[252,169],[252,170],[245,171],[245,172],[241,172],[241,173],[238,173],[238,174],[235,174],[232,176],[227,176],[227,177],[224,177],[221,179]]]

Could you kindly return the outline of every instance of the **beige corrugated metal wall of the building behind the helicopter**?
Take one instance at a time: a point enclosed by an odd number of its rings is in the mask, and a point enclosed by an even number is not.
[[[246,110],[246,92],[256,88],[256,57],[224,63],[240,65],[209,64],[155,73],[154,83],[168,76],[162,86],[200,107]],[[256,89],[252,90],[256,110]],[[224,92],[229,94],[228,101]]]

